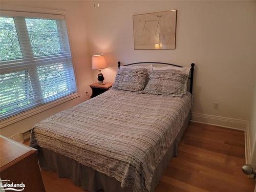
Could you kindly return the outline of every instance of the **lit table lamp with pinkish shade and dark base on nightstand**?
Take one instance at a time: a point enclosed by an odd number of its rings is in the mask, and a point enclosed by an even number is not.
[[[93,55],[93,69],[98,69],[98,84],[105,84],[102,69],[106,68],[106,61],[104,55]]]

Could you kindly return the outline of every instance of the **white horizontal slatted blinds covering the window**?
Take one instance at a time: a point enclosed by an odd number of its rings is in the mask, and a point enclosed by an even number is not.
[[[75,92],[65,20],[1,15],[1,120]]]

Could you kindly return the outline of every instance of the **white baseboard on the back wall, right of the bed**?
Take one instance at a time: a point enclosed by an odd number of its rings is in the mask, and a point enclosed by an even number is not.
[[[220,117],[215,115],[207,115],[202,113],[192,113],[193,122],[223,126],[236,130],[246,130],[247,121],[242,119],[234,119],[229,117]]]

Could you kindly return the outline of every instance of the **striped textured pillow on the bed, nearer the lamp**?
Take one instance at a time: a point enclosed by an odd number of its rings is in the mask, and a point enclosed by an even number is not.
[[[144,88],[146,75],[146,68],[119,69],[112,89],[140,92]]]

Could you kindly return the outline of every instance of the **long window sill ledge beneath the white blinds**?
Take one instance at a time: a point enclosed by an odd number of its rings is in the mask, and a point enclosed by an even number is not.
[[[48,109],[51,109],[54,106],[57,106],[57,105],[62,104],[62,103],[65,103],[65,102],[70,101],[72,99],[75,99],[77,97],[80,97],[80,95],[78,93],[73,93],[73,94],[68,95],[66,97],[57,99],[57,100],[52,101],[52,102],[47,103],[47,104],[43,104],[43,105],[37,106],[34,109],[31,109],[31,110],[28,110],[26,112],[14,115],[14,116],[12,116],[10,118],[4,119],[4,120],[0,121],[1,122],[0,129],[3,129],[5,126],[8,126],[8,125],[13,124],[15,122],[18,122],[20,120],[23,120],[23,119],[26,119],[26,118],[31,117],[33,115],[36,115],[36,114],[38,114],[40,112],[46,111]]]

